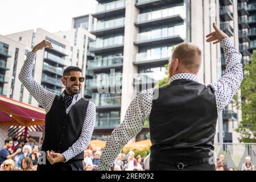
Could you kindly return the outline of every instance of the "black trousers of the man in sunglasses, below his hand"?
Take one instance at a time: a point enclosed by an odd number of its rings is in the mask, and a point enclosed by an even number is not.
[[[72,160],[67,163],[50,164],[47,160],[46,164],[38,165],[37,171],[84,171],[82,160]]]

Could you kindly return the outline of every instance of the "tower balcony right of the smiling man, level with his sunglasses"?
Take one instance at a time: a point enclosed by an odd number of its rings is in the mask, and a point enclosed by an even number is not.
[[[109,77],[108,75],[99,76],[96,79],[88,79],[85,82],[85,87],[88,90],[95,90],[97,88],[115,87],[122,85],[122,76]]]

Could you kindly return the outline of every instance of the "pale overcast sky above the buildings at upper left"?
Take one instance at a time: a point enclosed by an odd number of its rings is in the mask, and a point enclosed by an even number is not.
[[[48,32],[71,29],[72,18],[94,13],[95,0],[1,1],[0,35],[43,28]]]

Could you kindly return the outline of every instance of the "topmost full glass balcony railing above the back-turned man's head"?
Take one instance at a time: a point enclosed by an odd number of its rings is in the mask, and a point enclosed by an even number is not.
[[[166,18],[168,16],[181,15],[185,17],[185,7],[184,6],[175,6],[168,9],[151,11],[148,13],[139,14],[137,17],[137,22],[144,22],[148,20]]]

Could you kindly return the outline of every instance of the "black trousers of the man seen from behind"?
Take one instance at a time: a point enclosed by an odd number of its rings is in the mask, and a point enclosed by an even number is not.
[[[215,171],[215,165],[209,163],[196,164],[184,169],[164,162],[150,160],[150,171]]]

